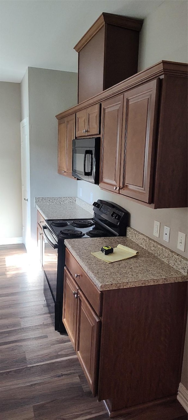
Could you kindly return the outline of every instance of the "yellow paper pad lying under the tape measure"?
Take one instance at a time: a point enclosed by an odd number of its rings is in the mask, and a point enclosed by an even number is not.
[[[92,255],[106,262],[116,262],[121,260],[127,260],[128,258],[138,255],[138,251],[125,247],[124,245],[118,244],[117,248],[113,249],[112,254],[105,255],[102,251],[91,252]]]

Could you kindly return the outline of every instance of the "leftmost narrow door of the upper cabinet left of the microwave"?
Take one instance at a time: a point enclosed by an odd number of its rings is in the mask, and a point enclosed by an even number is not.
[[[67,122],[65,118],[58,121],[58,173],[67,170]]]

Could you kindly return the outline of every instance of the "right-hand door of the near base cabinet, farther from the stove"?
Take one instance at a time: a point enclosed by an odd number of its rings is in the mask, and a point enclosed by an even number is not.
[[[92,307],[79,290],[77,308],[77,357],[90,385],[93,395],[96,395],[98,378],[98,346],[100,320]]]

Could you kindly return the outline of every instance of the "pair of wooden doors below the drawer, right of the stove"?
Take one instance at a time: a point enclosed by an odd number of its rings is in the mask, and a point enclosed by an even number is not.
[[[100,319],[67,268],[64,268],[63,323],[96,396]]]

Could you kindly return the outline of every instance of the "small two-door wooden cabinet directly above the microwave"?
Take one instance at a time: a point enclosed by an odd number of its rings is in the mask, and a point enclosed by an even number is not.
[[[85,108],[76,113],[76,136],[100,134],[100,104]]]

